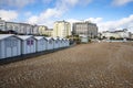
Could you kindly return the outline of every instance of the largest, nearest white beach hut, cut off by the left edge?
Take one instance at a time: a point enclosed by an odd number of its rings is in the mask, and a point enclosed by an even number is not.
[[[0,59],[21,55],[21,40],[13,34],[0,34]]]

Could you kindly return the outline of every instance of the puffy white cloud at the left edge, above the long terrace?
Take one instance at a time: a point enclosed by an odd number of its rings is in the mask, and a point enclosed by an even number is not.
[[[0,18],[2,18],[6,21],[11,21],[18,18],[18,13],[12,10],[0,10]]]

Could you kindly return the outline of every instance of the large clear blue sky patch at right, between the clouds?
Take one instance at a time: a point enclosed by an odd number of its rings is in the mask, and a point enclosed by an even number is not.
[[[119,20],[133,14],[133,3],[121,7],[111,4],[111,1],[93,1],[86,7],[75,7],[71,9],[64,18],[84,20],[88,18],[103,18],[104,21]]]

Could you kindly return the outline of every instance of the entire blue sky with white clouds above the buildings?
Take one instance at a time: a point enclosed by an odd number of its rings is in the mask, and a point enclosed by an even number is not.
[[[90,21],[99,32],[133,32],[133,0],[0,0],[0,18],[50,29],[55,21]]]

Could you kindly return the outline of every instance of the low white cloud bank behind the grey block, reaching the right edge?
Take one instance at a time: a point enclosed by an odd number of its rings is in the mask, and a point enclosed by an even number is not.
[[[76,19],[69,19],[66,20],[71,24],[74,22],[81,22],[81,20]],[[99,28],[99,32],[102,31],[110,31],[110,30],[122,30],[122,29],[127,29],[130,32],[133,32],[133,14],[127,16],[127,18],[122,18],[116,21],[103,21],[103,18],[89,18],[84,21],[90,21],[92,23],[96,23]]]

